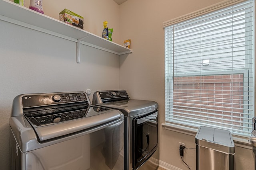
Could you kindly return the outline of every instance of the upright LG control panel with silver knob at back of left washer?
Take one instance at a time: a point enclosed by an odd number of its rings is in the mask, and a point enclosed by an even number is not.
[[[87,102],[84,92],[29,94],[22,96],[22,107],[36,107],[74,102]]]

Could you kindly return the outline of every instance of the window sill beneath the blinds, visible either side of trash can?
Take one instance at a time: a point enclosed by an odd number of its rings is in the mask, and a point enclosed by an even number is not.
[[[196,128],[191,128],[191,127],[184,127],[182,125],[175,125],[175,124],[171,124],[171,123],[162,123],[161,124],[166,130],[170,130],[170,131],[174,131],[174,132],[178,132],[178,133],[183,133],[186,135],[191,135],[196,137],[196,133],[198,131],[198,129]],[[252,145],[250,144],[250,142],[248,141],[249,138],[246,137],[238,137],[238,136],[234,136],[233,137],[233,141],[236,147],[242,147],[242,148],[246,148],[246,149],[251,149],[252,150]]]

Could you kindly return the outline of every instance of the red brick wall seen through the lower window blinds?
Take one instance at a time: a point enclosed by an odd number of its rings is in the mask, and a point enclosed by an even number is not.
[[[174,77],[173,116],[180,115],[178,112],[182,109],[183,113],[192,113],[190,117],[201,119],[203,123],[208,120],[218,125],[218,121],[228,124],[234,121],[240,125],[236,121],[242,119],[236,116],[243,117],[244,112],[243,79],[243,74]],[[204,115],[208,117],[202,117]]]

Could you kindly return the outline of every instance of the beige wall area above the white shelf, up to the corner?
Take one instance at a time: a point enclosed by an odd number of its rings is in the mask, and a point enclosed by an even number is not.
[[[13,0],[10,0],[13,2]],[[30,0],[24,0],[25,7],[30,6]],[[59,13],[65,8],[84,17],[84,30],[102,36],[103,21],[108,21],[108,27],[114,28],[113,40],[119,41],[119,10],[113,0],[42,0],[44,14],[59,20]]]

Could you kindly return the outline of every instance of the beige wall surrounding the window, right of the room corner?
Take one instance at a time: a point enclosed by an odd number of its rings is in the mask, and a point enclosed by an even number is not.
[[[164,123],[164,29],[167,20],[200,10],[221,0],[128,0],[120,5],[120,40],[132,39],[133,53],[120,58],[120,88],[132,98],[159,104],[159,123]],[[120,41],[121,42],[121,41]],[[188,169],[179,155],[179,142],[195,148],[195,137],[160,125],[160,161]],[[235,148],[235,169],[253,170],[251,149]],[[250,148],[250,147],[249,147]],[[186,150],[185,162],[196,169],[196,151]]]

